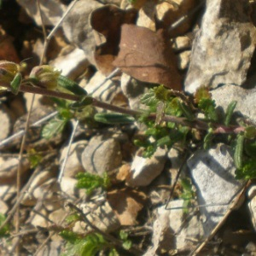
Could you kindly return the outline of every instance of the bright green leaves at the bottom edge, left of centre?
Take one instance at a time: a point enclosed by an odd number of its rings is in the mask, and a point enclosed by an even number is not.
[[[67,241],[62,256],[94,256],[109,246],[104,237],[97,233],[82,237],[72,231],[63,230],[59,235]]]

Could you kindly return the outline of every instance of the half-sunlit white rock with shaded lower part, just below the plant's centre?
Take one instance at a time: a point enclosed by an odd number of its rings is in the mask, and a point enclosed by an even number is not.
[[[150,158],[136,155],[131,164],[131,174],[126,182],[128,186],[148,186],[159,176],[166,164],[166,150],[158,148]]]

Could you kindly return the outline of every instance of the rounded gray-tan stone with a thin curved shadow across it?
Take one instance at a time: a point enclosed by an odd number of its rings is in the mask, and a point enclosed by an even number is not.
[[[91,138],[82,154],[82,165],[86,172],[102,175],[121,165],[120,144],[113,138]]]

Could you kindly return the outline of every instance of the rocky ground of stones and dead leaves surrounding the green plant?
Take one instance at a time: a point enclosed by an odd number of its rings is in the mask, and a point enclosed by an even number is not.
[[[236,101],[236,114],[256,123],[254,1],[0,3],[0,59],[25,62],[24,77],[46,49],[44,63],[102,102],[145,109],[140,99],[155,84],[186,95],[205,85],[219,111]],[[47,48],[43,27],[48,35],[57,28]],[[145,158],[134,143],[144,125],[90,119],[101,108],[86,108],[46,139],[44,125],[63,108],[37,95],[20,153],[31,105],[32,94],[1,91],[1,255],[256,255],[255,185],[236,179],[230,144],[159,147]],[[88,195],[79,172],[107,172],[111,184]],[[79,218],[70,221],[73,213]],[[103,247],[77,249],[63,230],[79,239],[96,232]]]

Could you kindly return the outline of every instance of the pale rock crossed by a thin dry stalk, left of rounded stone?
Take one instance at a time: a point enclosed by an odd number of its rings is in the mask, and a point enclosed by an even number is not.
[[[64,177],[75,177],[79,172],[84,172],[84,168],[81,163],[81,154],[83,153],[87,144],[88,142],[83,140],[71,145],[65,171],[63,173]],[[61,165],[63,164],[64,159],[67,157],[67,148],[68,146],[61,149]]]

